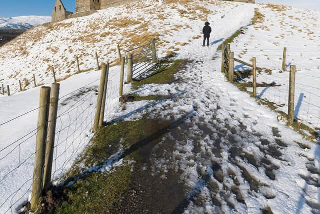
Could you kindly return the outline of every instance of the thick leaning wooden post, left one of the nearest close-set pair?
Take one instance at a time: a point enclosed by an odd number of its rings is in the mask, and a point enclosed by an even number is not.
[[[36,131],[36,149],[33,169],[31,211],[37,209],[39,197],[42,192],[43,166],[45,156],[45,140],[47,135],[47,123],[50,102],[50,87],[40,88],[39,113]]]

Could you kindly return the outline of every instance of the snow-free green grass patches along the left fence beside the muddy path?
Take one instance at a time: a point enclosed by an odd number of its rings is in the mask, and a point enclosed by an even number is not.
[[[175,80],[174,74],[183,66],[184,61],[165,61],[157,72],[150,78],[133,82],[136,88],[144,84],[168,84]],[[151,97],[135,97],[136,100],[149,100]],[[162,99],[162,97],[152,97]],[[101,213],[121,212],[123,195],[127,195],[130,186],[135,185],[139,173],[133,173],[133,165],[144,164],[145,157],[141,156],[141,148],[156,141],[170,121],[148,119],[147,115],[137,121],[119,121],[100,128],[92,143],[85,149],[81,157],[65,176],[75,183],[70,187],[57,186],[43,196],[40,213]],[[162,130],[163,129],[163,130]],[[124,148],[121,158],[124,164],[109,172],[84,172],[81,168],[100,166],[120,148]],[[130,163],[134,161],[134,164]],[[81,166],[81,167],[79,167]],[[127,197],[127,196],[125,196]]]

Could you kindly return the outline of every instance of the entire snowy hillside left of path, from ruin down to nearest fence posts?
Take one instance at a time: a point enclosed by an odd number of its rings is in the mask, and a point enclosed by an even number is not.
[[[13,91],[18,79],[28,78],[33,72],[37,83],[51,83],[52,76],[47,70],[50,65],[55,66],[57,78],[75,73],[74,55],[79,57],[80,69],[88,70],[60,82],[56,128],[60,137],[56,137],[55,142],[52,179],[63,175],[92,136],[90,129],[95,108],[92,104],[96,100],[99,78],[99,72],[95,71],[94,52],[98,53],[100,62],[113,62],[117,58],[117,43],[123,53],[123,49],[157,38],[160,56],[171,54],[167,53],[171,51],[187,59],[191,44],[197,46],[201,43],[204,21],[209,20],[216,26],[214,38],[222,41],[239,26],[249,23],[253,16],[253,5],[199,0],[178,2],[143,1],[130,7],[116,7],[88,17],[39,26],[0,49],[0,79],[4,79],[1,83],[10,84]],[[224,22],[230,22],[228,28],[224,28]],[[218,42],[212,43],[206,57],[211,58],[217,45]],[[122,111],[123,108],[118,106],[118,83],[119,66],[114,66],[109,72],[106,121],[146,104],[141,101]],[[125,84],[124,93],[129,92],[130,85]],[[16,212],[30,195],[37,111],[5,121],[36,109],[38,95],[37,87],[12,96],[0,96],[0,124],[3,123],[0,128],[0,183],[5,183],[0,187],[0,213]],[[21,139],[24,135],[27,136]]]

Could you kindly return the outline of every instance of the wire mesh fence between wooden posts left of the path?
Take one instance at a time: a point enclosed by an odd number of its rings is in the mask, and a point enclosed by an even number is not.
[[[104,121],[112,119],[118,105],[119,79],[120,74],[117,70],[109,72]],[[98,88],[101,87],[99,81],[100,78],[95,79],[58,99],[51,169],[53,184],[62,181],[62,176],[94,136],[92,128],[96,118]],[[1,133],[10,133],[0,138],[0,213],[20,212],[34,197],[32,192],[36,165],[34,160],[39,152],[36,143],[37,133],[41,128],[37,126],[36,118],[42,107],[44,106],[12,116],[5,121],[0,120]],[[52,123],[52,121],[47,122],[48,129]],[[44,168],[41,169],[42,172],[43,170]],[[44,176],[41,174],[40,179],[43,180]]]

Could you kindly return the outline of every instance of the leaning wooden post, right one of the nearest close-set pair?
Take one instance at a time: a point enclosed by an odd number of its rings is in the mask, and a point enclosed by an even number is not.
[[[43,185],[42,189],[47,189],[51,183],[52,159],[55,137],[56,115],[59,100],[59,83],[51,84],[49,117],[48,117],[48,133],[46,137],[45,159],[43,169]]]

